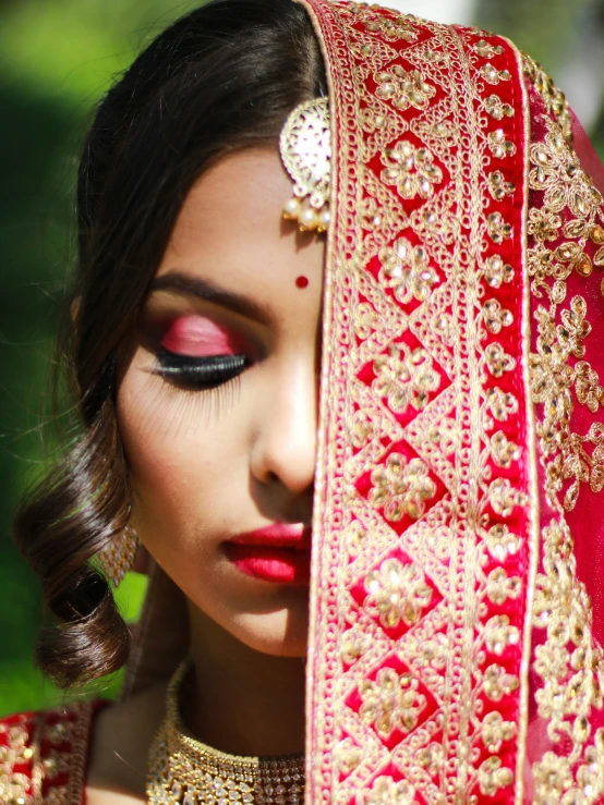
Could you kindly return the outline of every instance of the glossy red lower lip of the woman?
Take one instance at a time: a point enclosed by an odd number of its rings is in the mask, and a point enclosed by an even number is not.
[[[240,542],[226,542],[225,551],[229,561],[247,576],[273,584],[310,584],[310,551]]]

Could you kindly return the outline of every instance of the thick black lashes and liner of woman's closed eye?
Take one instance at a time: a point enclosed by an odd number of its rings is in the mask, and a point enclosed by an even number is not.
[[[233,380],[250,365],[251,361],[246,355],[192,357],[159,350],[154,374],[178,386],[204,391]]]

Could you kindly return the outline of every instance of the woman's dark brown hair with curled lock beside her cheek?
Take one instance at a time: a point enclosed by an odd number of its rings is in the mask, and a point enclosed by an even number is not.
[[[15,541],[58,619],[36,651],[69,687],[119,669],[130,635],[92,559],[128,523],[116,365],[192,184],[228,153],[277,145],[326,95],[312,24],[292,0],[213,0],[165,31],[100,102],[77,181],[78,265],[59,342],[81,436],[24,498]],[[75,302],[73,302],[75,300]]]

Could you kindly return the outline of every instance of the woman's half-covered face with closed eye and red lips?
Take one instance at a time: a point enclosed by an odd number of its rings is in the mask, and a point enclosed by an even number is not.
[[[118,395],[143,544],[194,608],[281,656],[306,645],[325,248],[282,220],[291,192],[264,149],[198,180]]]

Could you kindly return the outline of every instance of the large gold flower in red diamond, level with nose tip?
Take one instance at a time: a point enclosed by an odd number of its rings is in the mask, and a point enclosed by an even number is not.
[[[436,484],[423,461],[408,462],[401,453],[390,453],[386,464],[373,471],[371,480],[370,502],[375,509],[384,508],[384,516],[390,522],[404,515],[419,520],[426,502],[436,495]]]

